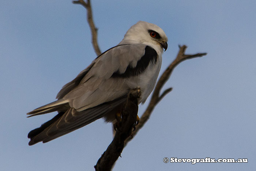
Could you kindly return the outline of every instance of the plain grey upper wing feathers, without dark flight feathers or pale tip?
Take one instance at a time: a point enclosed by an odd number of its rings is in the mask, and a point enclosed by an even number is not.
[[[103,53],[93,61],[80,83],[60,96],[69,101],[70,107],[83,111],[127,94],[134,87],[128,86],[126,78],[113,77],[113,74],[125,73],[128,66],[135,68],[145,53],[145,47],[143,44],[121,45]]]

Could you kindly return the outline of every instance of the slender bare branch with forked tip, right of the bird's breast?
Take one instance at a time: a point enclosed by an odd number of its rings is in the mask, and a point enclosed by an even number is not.
[[[196,58],[196,57],[202,57],[205,56],[207,53],[197,53],[197,54],[185,54],[185,50],[187,49],[187,46],[183,45],[180,46],[179,45],[179,52],[177,54],[177,57],[175,58],[175,60],[166,68],[165,72],[163,72],[162,76],[159,78],[157,85],[155,86],[153,95],[151,97],[150,103],[148,104],[148,107],[146,109],[146,111],[144,111],[142,117],[140,118],[140,122],[139,124],[136,126],[135,131],[133,132],[133,137],[139,132],[139,130],[144,126],[144,124],[148,121],[152,111],[154,110],[155,106],[157,105],[157,103],[162,100],[162,98],[169,93],[170,91],[172,91],[172,88],[168,88],[167,90],[165,90],[161,95],[160,91],[163,87],[163,85],[166,83],[166,81],[169,79],[170,75],[172,74],[173,69],[180,64],[180,62],[185,61],[187,59],[192,59],[192,58]],[[127,140],[125,140],[125,145],[131,140],[131,138],[127,138]]]

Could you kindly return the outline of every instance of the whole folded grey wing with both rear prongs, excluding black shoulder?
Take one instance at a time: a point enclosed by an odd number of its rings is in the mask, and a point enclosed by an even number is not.
[[[121,45],[103,53],[60,90],[59,100],[28,113],[38,115],[59,111],[53,119],[29,133],[29,145],[53,140],[120,107],[131,87],[126,83],[127,79],[113,75],[122,75],[128,66],[135,68],[145,53],[145,46]]]

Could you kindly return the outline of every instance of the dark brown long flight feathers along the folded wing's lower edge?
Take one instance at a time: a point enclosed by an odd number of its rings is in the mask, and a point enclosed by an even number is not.
[[[29,138],[31,138],[29,145],[34,145],[40,141],[48,142],[76,129],[82,128],[83,126],[103,117],[104,114],[111,112],[117,106],[123,104],[126,99],[127,96],[125,95],[112,102],[106,102],[99,106],[81,112],[70,108],[64,114],[58,116],[56,118],[57,120],[54,119],[54,117],[50,120],[51,122],[48,121],[42,124],[41,127],[32,130],[29,133],[30,136],[28,136]],[[35,132],[37,131],[39,131],[39,133],[35,134]]]

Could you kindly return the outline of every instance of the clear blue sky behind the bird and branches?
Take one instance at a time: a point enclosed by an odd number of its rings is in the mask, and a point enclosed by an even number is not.
[[[115,0],[92,1],[92,7],[102,51],[144,20],[169,39],[161,73],[179,44],[188,46],[187,53],[208,53],[174,69],[165,85],[173,91],[113,171],[255,170],[256,1]],[[94,170],[112,141],[111,124],[102,119],[46,144],[27,145],[27,133],[54,113],[32,118],[26,113],[54,101],[96,57],[85,9],[71,1],[3,1],[0,23],[1,170]],[[164,157],[248,163],[163,163]]]

